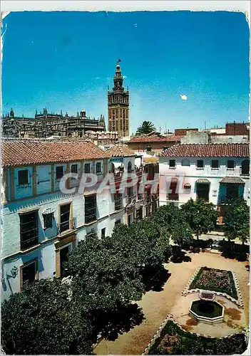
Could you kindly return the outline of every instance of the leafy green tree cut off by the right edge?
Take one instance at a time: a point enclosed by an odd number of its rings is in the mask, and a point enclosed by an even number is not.
[[[247,201],[241,198],[229,201],[223,222],[227,239],[240,239],[244,245],[250,234],[250,209]]]

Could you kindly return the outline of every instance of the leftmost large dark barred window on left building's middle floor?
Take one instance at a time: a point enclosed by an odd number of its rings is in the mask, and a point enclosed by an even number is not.
[[[38,211],[20,214],[21,251],[39,244]]]

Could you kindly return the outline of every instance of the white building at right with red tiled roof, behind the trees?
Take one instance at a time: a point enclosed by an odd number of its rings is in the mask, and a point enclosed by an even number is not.
[[[219,206],[232,197],[250,204],[249,144],[175,145],[160,159],[160,206],[199,197]],[[168,178],[167,178],[168,177]],[[223,212],[222,212],[223,214]]]

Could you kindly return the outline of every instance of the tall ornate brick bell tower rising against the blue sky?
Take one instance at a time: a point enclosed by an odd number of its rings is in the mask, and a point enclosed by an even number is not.
[[[118,59],[116,73],[113,77],[113,90],[108,87],[108,122],[109,131],[118,131],[118,135],[126,137],[129,131],[129,90],[123,88],[121,60]]]

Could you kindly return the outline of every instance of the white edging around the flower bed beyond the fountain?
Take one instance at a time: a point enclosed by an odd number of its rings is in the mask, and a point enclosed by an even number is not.
[[[190,287],[191,283],[193,282],[194,278],[198,275],[198,272],[200,271],[200,268],[203,268],[203,267],[198,267],[196,269],[195,273],[193,273],[193,276],[190,278],[190,281],[185,286],[184,290],[181,293],[183,296],[188,295],[188,293],[198,293],[198,292],[200,292],[200,290],[203,290],[203,289],[199,289],[199,288],[189,289],[189,287]],[[226,270],[222,270],[222,271],[226,271]],[[233,272],[233,271],[230,271],[230,272],[232,273],[233,281],[235,283],[235,289],[237,291],[238,300],[236,300],[235,298],[232,298],[227,293],[215,292],[214,290],[212,290],[212,292],[215,293],[215,295],[219,295],[219,296],[221,295],[222,297],[227,298],[228,300],[232,301],[232,303],[235,303],[238,307],[244,309],[244,304],[243,304],[243,300],[242,300],[242,295],[240,293],[240,287],[239,287],[239,283],[237,281],[237,276],[236,276],[235,272]]]

